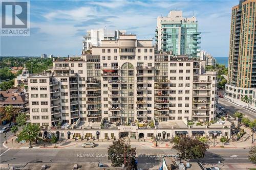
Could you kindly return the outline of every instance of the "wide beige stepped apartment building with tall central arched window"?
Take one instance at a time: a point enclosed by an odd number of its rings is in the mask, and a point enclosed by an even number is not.
[[[229,122],[188,125],[215,120],[217,72],[205,72],[205,61],[155,53],[152,40],[120,35],[92,46],[91,54],[54,59],[53,66],[53,72],[28,77],[31,123],[49,134],[230,136]]]

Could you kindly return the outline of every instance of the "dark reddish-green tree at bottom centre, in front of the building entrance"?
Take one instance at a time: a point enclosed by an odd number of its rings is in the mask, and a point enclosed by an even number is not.
[[[136,148],[132,148],[131,144],[123,139],[113,141],[113,144],[108,148],[108,155],[108,159],[111,160],[114,167],[122,166],[125,160],[126,169],[137,169]]]

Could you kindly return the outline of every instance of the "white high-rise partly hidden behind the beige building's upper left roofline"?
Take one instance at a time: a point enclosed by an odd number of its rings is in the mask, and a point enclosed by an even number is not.
[[[91,50],[92,46],[100,46],[101,40],[117,40],[120,34],[126,34],[126,31],[106,28],[88,30],[87,35],[83,36],[82,54],[88,50]]]

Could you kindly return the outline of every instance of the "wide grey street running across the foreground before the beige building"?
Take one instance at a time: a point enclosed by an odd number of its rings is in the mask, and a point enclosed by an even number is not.
[[[8,150],[1,155],[1,164],[23,165],[26,162],[102,162],[110,163],[107,148],[109,144],[98,144],[96,148],[74,148],[66,149],[14,149]],[[176,152],[166,148],[152,148],[143,143],[132,144],[136,147],[138,167],[150,168],[162,162],[162,156],[172,156]],[[202,162],[207,163],[250,163],[248,160],[249,149],[209,149]]]

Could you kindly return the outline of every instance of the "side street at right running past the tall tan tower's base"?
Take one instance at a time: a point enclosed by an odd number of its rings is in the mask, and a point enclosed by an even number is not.
[[[245,114],[246,116],[248,116],[248,118],[251,120],[256,119],[256,111],[252,109],[235,105],[229,102],[228,99],[225,99],[225,98],[218,98],[218,103],[219,103],[219,106],[223,106],[231,116],[233,115],[234,112],[239,111]]]

